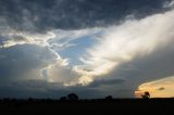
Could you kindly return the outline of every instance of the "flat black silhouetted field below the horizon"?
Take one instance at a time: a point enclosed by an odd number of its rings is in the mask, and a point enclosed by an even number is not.
[[[160,113],[171,115],[174,111],[174,99],[97,99],[78,101],[59,100],[1,100],[0,113],[69,113],[69,114],[112,114],[112,113]]]

